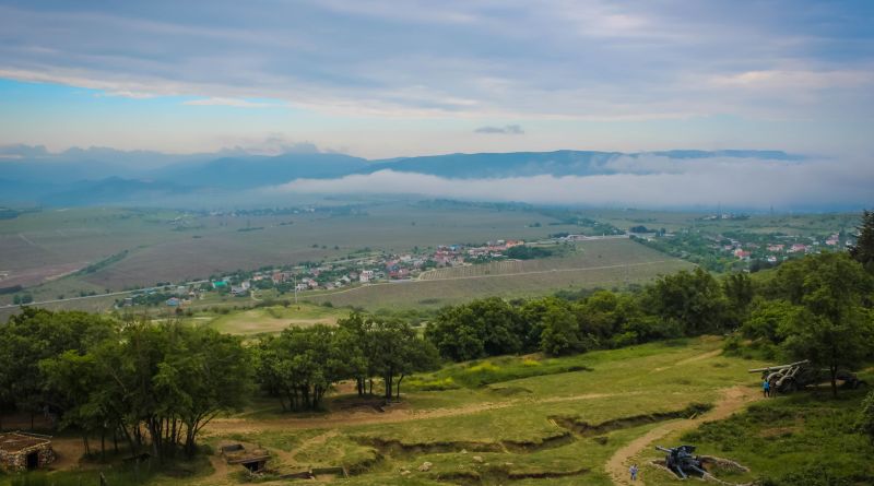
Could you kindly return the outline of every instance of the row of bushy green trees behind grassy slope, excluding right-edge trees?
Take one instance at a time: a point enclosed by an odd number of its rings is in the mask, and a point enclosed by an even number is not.
[[[718,281],[696,269],[634,293],[599,291],[577,300],[497,297],[440,310],[425,331],[440,356],[460,361],[503,354],[582,353],[736,328],[753,284],[743,273]]]

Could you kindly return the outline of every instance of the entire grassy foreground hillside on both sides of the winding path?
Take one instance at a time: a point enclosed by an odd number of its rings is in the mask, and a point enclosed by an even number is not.
[[[621,448],[670,425],[666,420],[684,419],[700,408],[697,404],[719,402],[727,388],[756,387],[746,369],[760,363],[723,356],[721,346],[722,340],[704,337],[564,358],[456,364],[409,378],[421,383],[451,379],[456,388],[406,388],[403,403],[383,414],[363,405],[350,408],[367,402],[350,394],[329,400],[330,411],[308,415],[281,414],[277,404],[264,401],[258,411],[208,428],[203,440],[213,450],[226,442],[267,448],[271,466],[281,472],[343,466],[352,476],[334,478],[338,484],[609,485],[605,464]],[[702,454],[752,469],[721,475],[732,482],[872,484],[874,466],[867,459],[874,448],[851,429],[861,398],[862,392],[846,392],[838,401],[816,392],[783,396],[659,443],[694,443]],[[647,464],[657,458],[647,450],[634,459]],[[187,475],[154,476],[149,484],[248,481],[238,466],[223,471],[218,458],[208,459],[215,472],[203,464]],[[430,464],[422,467],[425,463]],[[648,485],[680,484],[647,465],[642,473]],[[264,481],[286,484],[276,477]]]

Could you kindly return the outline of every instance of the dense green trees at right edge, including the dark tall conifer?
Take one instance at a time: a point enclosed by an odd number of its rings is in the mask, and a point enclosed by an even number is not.
[[[857,229],[848,253],[808,256],[757,274],[755,297],[728,349],[811,359],[828,368],[837,395],[839,369],[874,359],[874,212],[864,211]]]

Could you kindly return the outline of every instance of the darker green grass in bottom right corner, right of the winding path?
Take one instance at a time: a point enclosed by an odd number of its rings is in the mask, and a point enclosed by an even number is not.
[[[775,486],[874,484],[874,443],[854,429],[869,391],[843,391],[837,400],[825,389],[779,396],[669,440],[694,443],[701,454],[728,458],[751,469],[747,474],[721,476],[732,482]],[[657,454],[643,454],[641,463]],[[647,470],[647,484],[675,484],[675,479]]]

